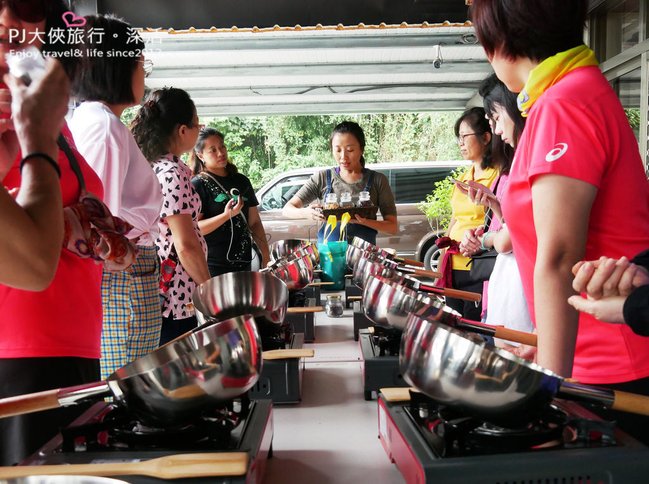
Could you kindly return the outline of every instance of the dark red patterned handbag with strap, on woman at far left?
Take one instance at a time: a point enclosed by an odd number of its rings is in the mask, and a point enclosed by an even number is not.
[[[86,190],[79,163],[63,135],[58,144],[79,181],[79,199],[63,208],[63,247],[79,257],[101,262],[105,270],[123,271],[137,257],[137,247],[125,235],[133,226],[115,217],[108,207]]]

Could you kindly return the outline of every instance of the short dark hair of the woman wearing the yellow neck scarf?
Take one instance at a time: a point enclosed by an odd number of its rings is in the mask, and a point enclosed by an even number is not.
[[[489,57],[542,61],[584,43],[587,0],[473,0],[471,20]]]

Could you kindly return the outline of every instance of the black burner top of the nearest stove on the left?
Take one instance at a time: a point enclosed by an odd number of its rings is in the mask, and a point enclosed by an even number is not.
[[[232,450],[235,428],[250,412],[247,395],[197,415],[175,426],[155,428],[143,425],[125,407],[109,405],[94,421],[61,431],[62,452],[101,450]]]

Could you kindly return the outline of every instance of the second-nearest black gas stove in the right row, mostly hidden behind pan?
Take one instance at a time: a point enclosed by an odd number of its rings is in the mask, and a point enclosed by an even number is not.
[[[399,370],[401,331],[375,326],[358,333],[363,355],[363,395],[372,400],[373,393],[385,387],[405,387]]]

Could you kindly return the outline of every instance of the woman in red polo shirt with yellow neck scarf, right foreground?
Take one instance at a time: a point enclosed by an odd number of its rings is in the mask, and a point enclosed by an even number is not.
[[[527,117],[503,200],[538,333],[538,363],[583,383],[649,395],[649,339],[579,314],[573,265],[649,246],[649,183],[638,143],[593,51],[587,0],[475,0],[496,75]],[[649,419],[615,415],[649,440]]]

